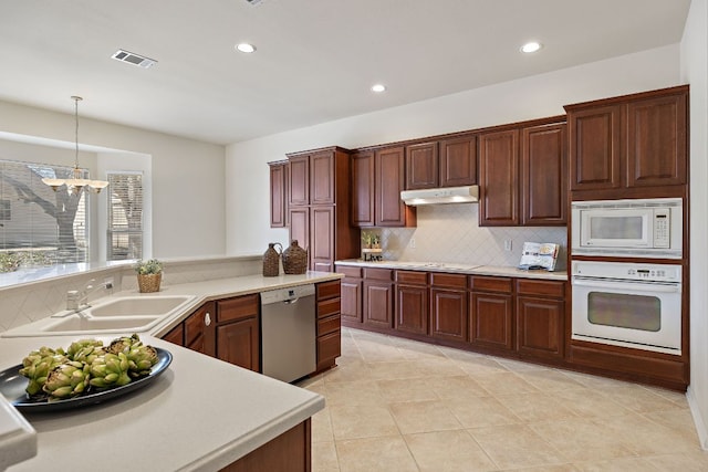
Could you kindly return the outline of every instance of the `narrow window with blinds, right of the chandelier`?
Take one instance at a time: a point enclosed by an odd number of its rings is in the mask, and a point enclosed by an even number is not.
[[[108,261],[143,258],[143,174],[108,172]]]

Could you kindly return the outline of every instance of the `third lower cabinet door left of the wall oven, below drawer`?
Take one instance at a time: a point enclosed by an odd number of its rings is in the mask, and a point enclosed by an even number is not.
[[[467,292],[430,289],[430,334],[450,340],[467,340]]]

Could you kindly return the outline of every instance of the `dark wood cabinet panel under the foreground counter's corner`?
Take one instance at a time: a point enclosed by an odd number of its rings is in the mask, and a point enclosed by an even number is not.
[[[311,419],[283,432],[221,472],[310,472],[312,470]]]

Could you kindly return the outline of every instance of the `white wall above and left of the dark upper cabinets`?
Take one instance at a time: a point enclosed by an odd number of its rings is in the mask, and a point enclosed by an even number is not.
[[[232,144],[226,151],[227,253],[262,253],[269,241],[287,247],[288,231],[269,228],[266,165],[287,153],[356,148],[561,115],[566,104],[680,83],[676,44]]]

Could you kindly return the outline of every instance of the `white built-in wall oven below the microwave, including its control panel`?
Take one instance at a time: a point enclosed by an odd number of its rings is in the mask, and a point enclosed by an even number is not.
[[[681,355],[681,266],[573,261],[573,339]]]

